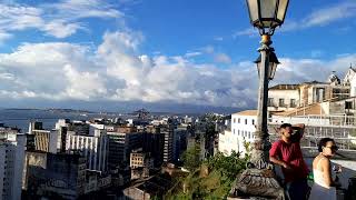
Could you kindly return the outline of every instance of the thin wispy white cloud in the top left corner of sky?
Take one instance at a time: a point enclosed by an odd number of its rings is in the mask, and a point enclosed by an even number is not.
[[[31,7],[13,2],[0,3],[0,41],[16,31],[37,29],[47,36],[66,38],[86,30],[82,19],[120,19],[123,13],[99,0],[65,0]]]

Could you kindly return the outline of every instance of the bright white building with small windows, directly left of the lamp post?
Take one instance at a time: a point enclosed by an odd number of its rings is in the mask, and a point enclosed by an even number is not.
[[[256,131],[256,110],[246,110],[231,114],[231,129],[219,133],[219,151],[229,156],[233,151],[244,156],[245,142],[253,142]]]

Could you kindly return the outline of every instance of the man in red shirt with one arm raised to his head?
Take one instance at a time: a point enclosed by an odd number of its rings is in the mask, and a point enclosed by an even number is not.
[[[304,124],[295,127],[290,123],[281,124],[280,140],[274,142],[269,150],[269,160],[281,167],[290,200],[304,200],[309,191],[307,183],[309,170],[300,149],[304,128]]]

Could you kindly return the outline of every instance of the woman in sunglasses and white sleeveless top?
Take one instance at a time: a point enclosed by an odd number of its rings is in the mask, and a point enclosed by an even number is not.
[[[319,154],[313,161],[314,184],[309,200],[336,200],[335,181],[332,178],[330,158],[337,151],[335,141],[323,138],[318,143]]]

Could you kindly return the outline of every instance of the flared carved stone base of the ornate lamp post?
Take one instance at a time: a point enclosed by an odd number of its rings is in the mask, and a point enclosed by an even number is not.
[[[246,169],[230,190],[228,200],[285,200],[285,191],[270,169]]]

